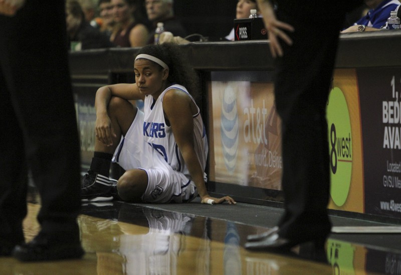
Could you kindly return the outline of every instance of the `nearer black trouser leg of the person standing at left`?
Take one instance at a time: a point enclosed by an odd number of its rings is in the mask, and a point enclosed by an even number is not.
[[[41,195],[43,231],[77,231],[80,209],[80,149],[64,9],[64,1],[28,0],[2,26],[11,67],[8,87]]]

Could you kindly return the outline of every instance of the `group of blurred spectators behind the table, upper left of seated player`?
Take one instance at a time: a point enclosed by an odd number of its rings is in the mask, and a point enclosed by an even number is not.
[[[173,0],[67,0],[66,23],[71,51],[142,47],[153,43],[157,23],[185,37]]]

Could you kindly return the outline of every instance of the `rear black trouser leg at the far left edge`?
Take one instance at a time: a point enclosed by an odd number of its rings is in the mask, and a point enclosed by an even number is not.
[[[0,45],[0,52],[2,46]],[[27,167],[23,134],[0,70],[0,249],[24,241]]]

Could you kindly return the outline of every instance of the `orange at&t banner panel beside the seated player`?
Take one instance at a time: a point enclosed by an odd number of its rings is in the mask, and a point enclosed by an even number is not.
[[[227,80],[229,79],[229,80]],[[230,80],[231,79],[231,80]],[[209,88],[210,180],[280,190],[281,123],[273,83],[212,73]],[[238,78],[237,78],[238,79]]]

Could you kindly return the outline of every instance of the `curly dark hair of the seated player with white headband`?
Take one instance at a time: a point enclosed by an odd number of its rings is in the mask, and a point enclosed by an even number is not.
[[[169,68],[167,81],[184,86],[189,94],[196,100],[199,96],[199,80],[195,70],[189,66],[183,57],[179,46],[172,43],[146,45],[138,52],[148,54],[162,60]],[[153,61],[152,61],[153,62]],[[159,64],[153,62],[163,69]]]

